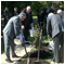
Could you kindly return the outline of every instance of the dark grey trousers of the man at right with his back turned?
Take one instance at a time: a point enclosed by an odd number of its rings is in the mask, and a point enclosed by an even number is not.
[[[57,34],[53,38],[54,42],[54,58],[56,63],[64,63],[64,32]],[[58,47],[61,46],[61,47]]]

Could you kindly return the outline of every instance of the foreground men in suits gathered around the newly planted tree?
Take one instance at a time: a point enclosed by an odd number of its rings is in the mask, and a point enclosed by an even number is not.
[[[31,8],[27,6],[26,10],[22,11],[18,15],[11,17],[3,29],[5,61],[8,62],[12,62],[10,58],[10,47],[12,49],[12,56],[20,57],[14,52],[13,40],[21,34],[21,30],[24,30],[24,37],[27,41],[28,29],[31,28],[34,24],[30,10]],[[56,63],[64,62],[64,18],[61,15],[62,12],[63,11],[58,12],[58,14],[49,13],[47,17],[48,39],[50,39],[51,30],[54,42],[53,62]],[[61,44],[60,49],[58,44]]]

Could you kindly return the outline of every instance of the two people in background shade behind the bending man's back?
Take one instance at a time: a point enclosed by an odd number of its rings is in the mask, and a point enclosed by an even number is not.
[[[4,26],[6,25],[8,21],[12,17],[12,16],[15,16],[15,15],[18,15],[18,11],[17,11],[17,8],[15,6],[14,8],[14,12],[10,12],[9,8],[5,6],[4,11],[1,12],[1,16],[4,17]]]

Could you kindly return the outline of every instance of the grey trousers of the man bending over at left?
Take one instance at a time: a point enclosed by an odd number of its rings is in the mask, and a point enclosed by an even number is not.
[[[4,53],[5,53],[5,58],[10,60],[10,47],[12,50],[12,55],[14,55],[14,41],[11,40],[6,34],[3,34],[3,39],[4,39]]]

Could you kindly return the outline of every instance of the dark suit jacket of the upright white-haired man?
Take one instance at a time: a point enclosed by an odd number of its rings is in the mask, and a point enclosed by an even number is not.
[[[26,10],[23,11],[26,14],[26,18],[22,22],[22,24],[25,26],[25,29],[30,28],[30,24],[32,23],[32,14],[31,12],[26,13]]]

